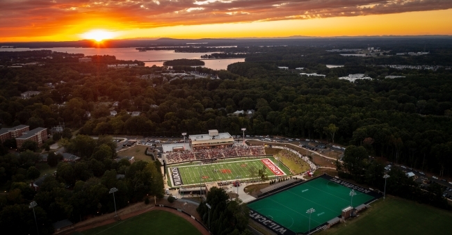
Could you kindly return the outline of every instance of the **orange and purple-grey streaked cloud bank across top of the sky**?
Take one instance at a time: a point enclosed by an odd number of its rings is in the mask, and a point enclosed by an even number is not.
[[[46,38],[91,29],[126,31],[451,8],[451,0],[3,0],[0,38]]]

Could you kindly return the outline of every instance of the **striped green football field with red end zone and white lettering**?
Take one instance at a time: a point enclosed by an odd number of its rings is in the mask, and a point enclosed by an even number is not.
[[[290,172],[282,163],[277,163],[273,156],[252,159],[241,158],[236,159],[236,161],[220,161],[202,165],[199,165],[199,163],[172,165],[168,167],[167,172],[171,185],[179,187],[213,181],[258,180],[257,170],[261,169],[263,165],[266,165],[266,174],[270,179],[276,176],[287,176]],[[254,177],[249,170],[252,167],[256,169]]]

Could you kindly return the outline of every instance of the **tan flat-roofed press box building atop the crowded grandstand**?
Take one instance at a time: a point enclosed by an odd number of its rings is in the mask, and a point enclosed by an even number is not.
[[[225,132],[218,133],[217,130],[209,130],[209,134],[191,135],[188,136],[191,142],[191,148],[193,150],[203,147],[216,147],[216,146],[232,146],[234,145],[234,138]]]

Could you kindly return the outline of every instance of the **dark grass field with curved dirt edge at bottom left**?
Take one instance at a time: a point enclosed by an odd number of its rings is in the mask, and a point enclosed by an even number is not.
[[[84,232],[74,233],[84,235],[108,234],[201,234],[190,222],[168,211],[149,211],[140,216],[115,222],[111,225],[96,227]],[[73,235],[74,235],[73,234]]]

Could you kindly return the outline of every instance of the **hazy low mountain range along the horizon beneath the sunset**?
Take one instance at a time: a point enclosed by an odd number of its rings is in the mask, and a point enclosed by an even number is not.
[[[200,39],[178,39],[178,38],[130,38],[120,40],[78,40],[63,42],[0,42],[0,47],[19,48],[52,48],[52,47],[100,47],[100,48],[122,48],[122,47],[230,47],[230,46],[309,46],[309,47],[339,47],[341,45],[356,43],[357,46],[371,45],[381,47],[386,43],[407,42],[414,44],[426,44],[439,42],[452,44],[452,35],[406,35],[406,36],[340,36],[340,37],[309,37],[293,35],[290,37],[277,38],[200,38]]]

